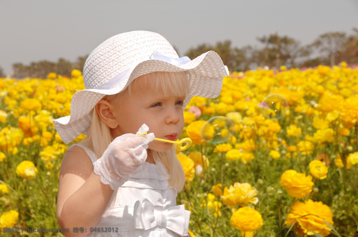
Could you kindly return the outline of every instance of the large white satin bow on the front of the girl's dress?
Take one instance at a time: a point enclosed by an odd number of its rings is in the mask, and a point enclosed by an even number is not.
[[[180,236],[187,236],[190,211],[185,210],[184,205],[158,211],[154,208],[153,203],[143,198],[142,202],[138,200],[134,204],[133,219],[136,229],[147,230],[156,226],[164,226]]]

